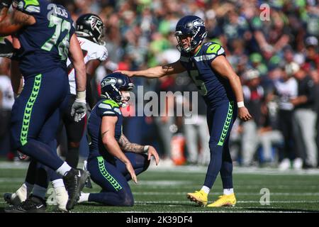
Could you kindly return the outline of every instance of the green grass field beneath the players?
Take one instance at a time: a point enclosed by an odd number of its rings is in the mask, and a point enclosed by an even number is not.
[[[7,206],[5,192],[15,192],[26,175],[26,166],[0,164],[0,212]],[[209,209],[198,207],[186,199],[187,192],[201,187],[206,167],[151,167],[138,176],[138,184],[130,183],[135,205],[133,207],[109,207],[94,203],[78,204],[73,212],[319,212],[319,171],[279,172],[273,169],[234,169],[234,186],[237,197],[235,207]],[[99,192],[93,189],[84,192]],[[261,189],[269,189],[269,205],[260,204]],[[49,192],[52,192],[49,191]],[[209,201],[222,192],[220,177],[216,181]],[[50,196],[50,194],[48,194]],[[264,199],[262,199],[264,201]],[[47,211],[54,211],[48,206]]]

